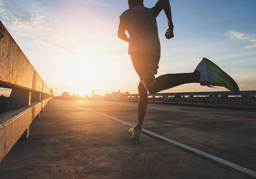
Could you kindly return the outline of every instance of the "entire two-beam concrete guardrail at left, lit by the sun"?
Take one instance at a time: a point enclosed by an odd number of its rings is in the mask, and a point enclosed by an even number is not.
[[[11,94],[0,115],[0,161],[40,117],[51,99],[51,91],[0,21],[0,87]]]

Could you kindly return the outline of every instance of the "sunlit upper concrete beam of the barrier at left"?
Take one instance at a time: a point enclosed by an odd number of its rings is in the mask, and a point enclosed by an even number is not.
[[[32,64],[0,21],[0,84],[51,94]]]

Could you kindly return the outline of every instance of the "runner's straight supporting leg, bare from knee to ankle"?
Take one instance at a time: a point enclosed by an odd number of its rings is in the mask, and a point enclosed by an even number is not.
[[[142,129],[142,123],[145,118],[145,114],[148,108],[148,90],[145,88],[142,81],[138,85],[139,101],[138,101],[138,121],[135,126],[135,130]]]

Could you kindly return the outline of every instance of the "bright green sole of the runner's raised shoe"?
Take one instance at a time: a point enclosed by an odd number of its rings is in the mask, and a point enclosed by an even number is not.
[[[211,70],[216,73],[216,80],[221,81],[225,85],[223,87],[227,88],[233,93],[239,91],[239,87],[235,80],[231,78],[225,71],[223,71],[219,66],[217,66],[212,61],[208,60],[207,58],[203,58],[203,63],[206,64]]]

